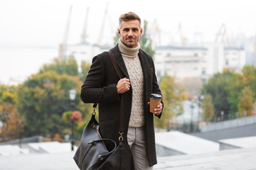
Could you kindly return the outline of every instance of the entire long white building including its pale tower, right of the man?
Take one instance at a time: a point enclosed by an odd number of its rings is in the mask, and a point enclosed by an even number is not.
[[[245,50],[225,47],[223,43],[208,43],[203,47],[156,47],[156,76],[169,74],[179,81],[199,77],[206,82],[213,74],[229,68],[240,72],[245,65]]]

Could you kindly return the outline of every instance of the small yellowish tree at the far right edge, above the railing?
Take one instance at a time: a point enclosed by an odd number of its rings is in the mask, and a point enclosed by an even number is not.
[[[238,111],[240,117],[242,117],[245,113],[247,115],[250,115],[250,113],[253,110],[253,94],[250,87],[245,86],[245,88],[242,90],[242,94],[239,97],[238,102]]]

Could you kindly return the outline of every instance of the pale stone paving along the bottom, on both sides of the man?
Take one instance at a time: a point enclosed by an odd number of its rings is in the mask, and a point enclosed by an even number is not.
[[[0,156],[1,170],[78,170],[74,152]],[[255,170],[256,147],[208,154],[159,157],[158,170]]]

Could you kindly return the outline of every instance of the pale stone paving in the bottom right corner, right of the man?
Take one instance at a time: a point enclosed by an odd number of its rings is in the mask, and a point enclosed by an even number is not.
[[[256,147],[208,154],[162,157],[154,169],[161,170],[255,170]]]

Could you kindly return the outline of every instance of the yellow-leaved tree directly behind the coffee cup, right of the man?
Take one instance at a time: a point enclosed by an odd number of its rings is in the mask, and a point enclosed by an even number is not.
[[[160,120],[155,117],[154,124],[159,128],[164,128],[170,125],[171,118],[183,113],[182,101],[185,100],[185,89],[169,75],[162,77],[160,89],[164,101],[164,114]]]

